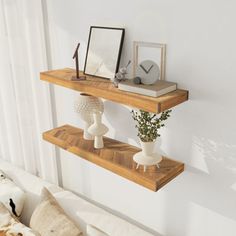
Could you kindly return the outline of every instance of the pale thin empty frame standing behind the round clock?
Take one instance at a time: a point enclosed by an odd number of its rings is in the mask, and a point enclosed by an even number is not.
[[[166,74],[166,44],[162,43],[151,43],[151,42],[141,42],[134,41],[133,42],[133,77],[136,76],[136,68],[138,66],[138,58],[139,58],[139,47],[147,47],[147,48],[159,48],[161,49],[160,55],[160,80],[165,80]]]

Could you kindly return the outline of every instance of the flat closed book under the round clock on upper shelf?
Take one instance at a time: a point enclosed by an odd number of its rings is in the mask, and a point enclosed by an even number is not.
[[[165,80],[158,80],[155,84],[135,84],[133,80],[126,80],[119,83],[118,88],[123,91],[138,93],[150,97],[159,97],[177,89],[177,84]]]

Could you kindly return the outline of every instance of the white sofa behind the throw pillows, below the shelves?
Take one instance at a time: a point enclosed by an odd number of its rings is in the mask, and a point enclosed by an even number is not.
[[[29,225],[32,212],[40,199],[41,189],[45,186],[53,193],[66,213],[82,228],[84,235],[86,235],[85,229],[87,224],[92,224],[111,236],[153,235],[85,201],[69,191],[65,191],[56,185],[43,181],[2,160],[0,160],[0,169],[27,194],[27,200],[22,213],[22,222],[26,225]]]

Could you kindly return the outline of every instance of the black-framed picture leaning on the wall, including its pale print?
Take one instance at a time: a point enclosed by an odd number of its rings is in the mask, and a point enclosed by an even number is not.
[[[118,72],[125,29],[91,26],[84,73],[112,79]]]

